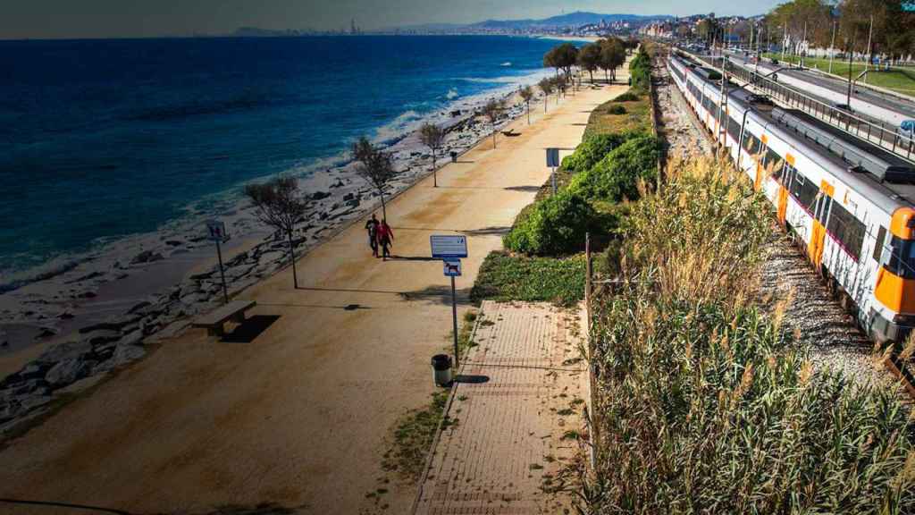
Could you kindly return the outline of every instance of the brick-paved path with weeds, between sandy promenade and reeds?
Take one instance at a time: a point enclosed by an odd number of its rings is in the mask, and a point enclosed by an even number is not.
[[[587,365],[577,310],[545,303],[483,302],[464,380],[421,484],[415,513],[563,513],[568,500],[544,493],[579,454]],[[485,382],[475,382],[488,378]]]

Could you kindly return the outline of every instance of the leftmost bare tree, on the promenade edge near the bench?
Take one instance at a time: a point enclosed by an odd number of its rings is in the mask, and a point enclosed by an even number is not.
[[[292,263],[292,280],[298,288],[296,273],[296,246],[293,231],[296,222],[305,215],[308,203],[298,192],[298,182],[287,176],[280,176],[263,184],[248,184],[244,195],[254,206],[254,214],[261,222],[274,227],[289,240],[289,261]]]

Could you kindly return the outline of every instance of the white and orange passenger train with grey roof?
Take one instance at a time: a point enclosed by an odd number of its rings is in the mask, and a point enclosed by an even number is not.
[[[915,327],[915,167],[686,56],[666,66],[862,329],[881,345],[904,343]]]

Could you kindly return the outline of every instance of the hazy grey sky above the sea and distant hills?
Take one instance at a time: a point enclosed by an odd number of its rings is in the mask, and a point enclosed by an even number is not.
[[[236,27],[336,29],[540,18],[563,12],[755,15],[778,0],[0,0],[0,38],[222,34]]]

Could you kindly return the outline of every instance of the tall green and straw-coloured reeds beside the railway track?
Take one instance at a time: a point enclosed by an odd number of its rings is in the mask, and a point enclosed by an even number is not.
[[[908,411],[814,372],[755,301],[768,204],[723,161],[672,163],[596,299],[587,513],[913,513]]]

